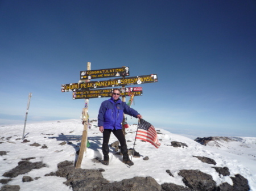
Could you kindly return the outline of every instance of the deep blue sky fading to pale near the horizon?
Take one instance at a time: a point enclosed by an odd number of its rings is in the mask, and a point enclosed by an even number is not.
[[[80,71],[158,74],[132,105],[172,133],[256,137],[256,2],[0,1],[0,124],[80,118]],[[126,98],[128,99],[128,98]],[[89,100],[96,118],[106,98]],[[130,124],[137,120],[128,117]]]

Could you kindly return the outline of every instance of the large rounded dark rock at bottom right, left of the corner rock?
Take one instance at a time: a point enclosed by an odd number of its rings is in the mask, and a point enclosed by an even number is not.
[[[214,191],[216,182],[212,176],[199,170],[181,170],[178,175],[183,177],[183,182],[188,188],[197,191]]]

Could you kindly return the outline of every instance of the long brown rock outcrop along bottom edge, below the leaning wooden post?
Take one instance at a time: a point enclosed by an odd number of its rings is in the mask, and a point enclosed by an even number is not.
[[[104,169],[75,169],[73,162],[64,161],[57,165],[58,170],[45,176],[66,177],[64,182],[72,186],[73,191],[79,190],[161,190],[161,186],[152,177],[134,177],[119,182],[109,183],[101,172]]]

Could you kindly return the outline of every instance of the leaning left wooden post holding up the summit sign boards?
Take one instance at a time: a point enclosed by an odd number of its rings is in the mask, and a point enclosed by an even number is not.
[[[90,70],[90,62],[87,63],[87,70]],[[81,82],[81,80],[79,81]],[[89,80],[87,80],[89,82]],[[88,137],[88,103],[89,99],[85,99],[85,107],[82,109],[82,124],[84,124],[84,130],[82,131],[82,141],[79,151],[79,158],[76,162],[76,168],[81,168],[82,158],[84,156],[84,152],[86,152],[87,145],[87,137]]]

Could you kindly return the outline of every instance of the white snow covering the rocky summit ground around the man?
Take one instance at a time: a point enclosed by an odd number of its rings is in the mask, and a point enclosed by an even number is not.
[[[146,120],[146,119],[145,119]],[[147,120],[148,121],[148,120]],[[148,121],[150,122],[150,121]],[[148,142],[137,139],[135,150],[141,155],[134,158],[134,165],[128,167],[122,163],[122,156],[115,155],[114,148],[110,147],[109,165],[96,163],[92,159],[98,157],[102,159],[102,133],[91,122],[88,129],[88,139],[90,147],[86,149],[82,160],[81,168],[98,169],[103,168],[102,175],[110,182],[130,179],[134,176],[153,177],[159,184],[172,182],[177,185],[184,185],[182,177],[178,175],[181,169],[199,169],[208,173],[217,182],[217,185],[228,182],[232,185],[229,176],[219,176],[215,169],[211,167],[228,167],[230,176],[240,173],[249,181],[251,190],[256,190],[256,138],[233,137],[236,141],[221,142],[221,147],[203,146],[183,135],[172,134],[167,130],[160,130],[158,138],[161,146],[155,148]],[[154,125],[154,124],[153,124]],[[19,175],[12,178],[8,184],[20,185],[20,190],[72,190],[63,184],[65,178],[56,176],[44,176],[47,173],[57,171],[57,163],[64,160],[75,161],[76,151],[79,150],[83,125],[80,119],[38,122],[26,125],[26,139],[30,142],[22,143],[24,125],[6,125],[0,127],[0,151],[9,151],[7,155],[0,156],[0,179],[7,179],[3,173],[15,168],[23,158],[35,157],[30,162],[40,162],[48,167],[33,169],[26,175]],[[136,125],[131,125],[126,129],[126,141],[128,148],[133,148]],[[8,137],[11,137],[8,139]],[[61,142],[72,142],[71,144],[59,145]],[[112,134],[109,144],[117,141]],[[171,141],[185,143],[188,147],[172,147]],[[30,146],[32,143],[46,145],[48,148]],[[149,160],[143,160],[148,156]],[[193,156],[206,156],[216,161],[216,165],[201,162]],[[168,175],[169,169],[174,177]],[[22,182],[23,176],[40,177],[31,182]],[[0,184],[0,186],[2,186]]]

